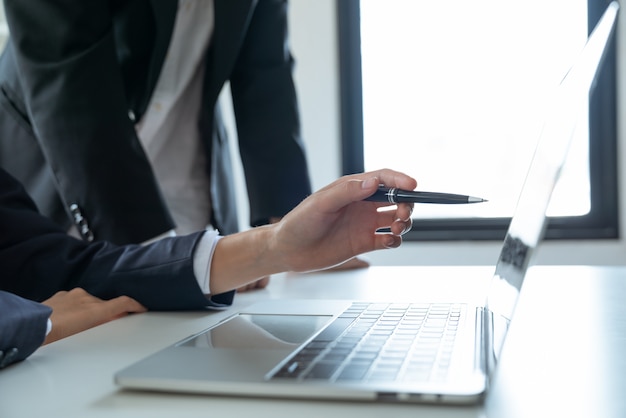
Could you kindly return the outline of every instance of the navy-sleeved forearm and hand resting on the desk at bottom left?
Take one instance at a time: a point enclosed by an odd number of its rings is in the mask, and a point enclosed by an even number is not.
[[[83,289],[57,292],[43,303],[0,291],[0,369],[43,344],[145,308],[126,296],[103,301]]]

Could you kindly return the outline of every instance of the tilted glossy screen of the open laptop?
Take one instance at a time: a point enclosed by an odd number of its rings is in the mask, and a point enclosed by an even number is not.
[[[608,6],[548,107],[487,296],[489,310],[508,320],[513,315],[530,259],[543,238],[546,210],[565,162],[576,121],[588,111],[586,98],[613,34],[618,9],[616,2]],[[511,155],[511,158],[515,156]]]

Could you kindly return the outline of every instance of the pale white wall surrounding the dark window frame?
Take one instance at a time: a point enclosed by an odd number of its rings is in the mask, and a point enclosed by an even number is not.
[[[291,0],[291,39],[297,60],[296,82],[300,94],[303,136],[311,165],[313,185],[319,188],[341,174],[338,94],[338,52],[336,0]],[[626,88],[626,20],[620,19],[619,108],[624,109]],[[619,111],[619,181],[626,173],[626,141]],[[620,197],[620,213],[625,212],[626,193]],[[622,224],[624,220],[622,220]],[[621,235],[624,235],[622,227]],[[407,242],[401,248],[370,253],[372,264],[493,264],[499,242]],[[546,241],[537,253],[539,264],[626,265],[626,242],[620,240]]]

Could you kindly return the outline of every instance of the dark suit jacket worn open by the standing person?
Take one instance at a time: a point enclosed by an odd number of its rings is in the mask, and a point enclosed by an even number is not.
[[[169,45],[177,0],[5,1],[0,166],[47,216],[86,239],[142,242],[174,225],[134,125]],[[250,222],[310,193],[299,136],[284,0],[215,0],[198,126],[213,224],[237,229],[230,157],[216,101],[229,80]],[[69,215],[69,216],[68,216]]]

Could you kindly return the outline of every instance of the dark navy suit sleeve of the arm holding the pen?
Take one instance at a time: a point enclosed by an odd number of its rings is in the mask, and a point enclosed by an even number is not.
[[[0,169],[0,290],[43,301],[82,287],[102,299],[128,295],[152,310],[204,309],[193,273],[202,233],[149,246],[88,243],[37,212],[23,187]],[[212,297],[230,304],[234,292]]]

